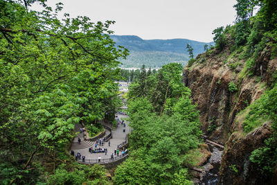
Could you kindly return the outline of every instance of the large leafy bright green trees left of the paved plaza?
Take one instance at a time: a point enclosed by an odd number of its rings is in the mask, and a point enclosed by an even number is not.
[[[127,55],[109,37],[114,21],[60,20],[61,3],[52,9],[37,1],[44,6],[37,12],[28,8],[35,2],[0,0],[0,143],[11,184],[35,184],[44,173],[37,153],[52,156],[71,141],[75,124],[114,112],[116,67]],[[65,181],[78,176],[57,171]]]

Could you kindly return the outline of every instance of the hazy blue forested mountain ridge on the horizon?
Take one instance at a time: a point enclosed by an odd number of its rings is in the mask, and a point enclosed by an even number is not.
[[[204,52],[205,44],[213,42],[197,42],[190,39],[141,39],[135,35],[110,35],[116,45],[125,46],[130,53],[121,67],[161,67],[170,62],[186,64],[188,51],[186,45],[193,46],[194,55]]]

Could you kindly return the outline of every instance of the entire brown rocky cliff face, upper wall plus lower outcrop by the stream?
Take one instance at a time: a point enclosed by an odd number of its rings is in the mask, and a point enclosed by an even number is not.
[[[195,64],[183,71],[183,82],[192,91],[193,103],[197,103],[204,134],[225,144],[220,184],[262,183],[260,172],[249,157],[272,134],[270,123],[245,134],[242,126],[245,116],[238,113],[271,85],[277,60],[271,59],[271,49],[266,48],[259,53],[252,76],[247,76],[246,59],[240,58],[239,53],[231,53],[229,49],[218,53],[213,50],[198,55]]]

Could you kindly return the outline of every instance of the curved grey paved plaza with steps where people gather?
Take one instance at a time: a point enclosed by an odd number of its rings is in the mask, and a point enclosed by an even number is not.
[[[119,121],[126,120],[128,116],[122,115],[122,114],[116,114],[118,116]],[[117,118],[116,118],[117,121]],[[77,152],[80,152],[80,154],[85,156],[85,159],[98,159],[98,157],[101,157],[101,159],[109,159],[111,157],[111,153],[114,153],[114,150],[120,145],[120,143],[123,143],[125,141],[127,134],[129,134],[129,126],[128,122],[124,121],[126,124],[126,127],[121,125],[121,123],[118,124],[118,127],[116,127],[115,130],[111,131],[112,139],[110,139],[110,146],[108,142],[104,143],[104,146],[100,146],[100,148],[107,148],[107,155],[105,155],[105,152],[102,153],[92,153],[89,152],[89,148],[93,147],[95,148],[96,141],[84,141],[84,134],[80,133],[80,127],[75,127],[75,132],[78,130],[79,134],[75,137],[72,143],[71,150],[74,151],[74,154],[76,155]],[[123,132],[123,129],[125,129],[125,132]],[[109,130],[106,130],[106,134],[109,134]],[[78,137],[81,139],[81,143],[78,143]],[[69,151],[71,152],[71,151]],[[120,155],[122,153],[120,152]]]

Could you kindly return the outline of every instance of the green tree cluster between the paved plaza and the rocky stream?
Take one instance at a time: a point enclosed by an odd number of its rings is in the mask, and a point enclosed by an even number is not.
[[[181,83],[180,73],[179,64],[163,66],[154,78],[157,86],[150,86],[145,96],[137,96],[143,83],[132,83],[128,94],[132,153],[116,169],[116,184],[192,183],[182,164],[199,145],[202,132],[199,112],[188,98],[190,91]]]

